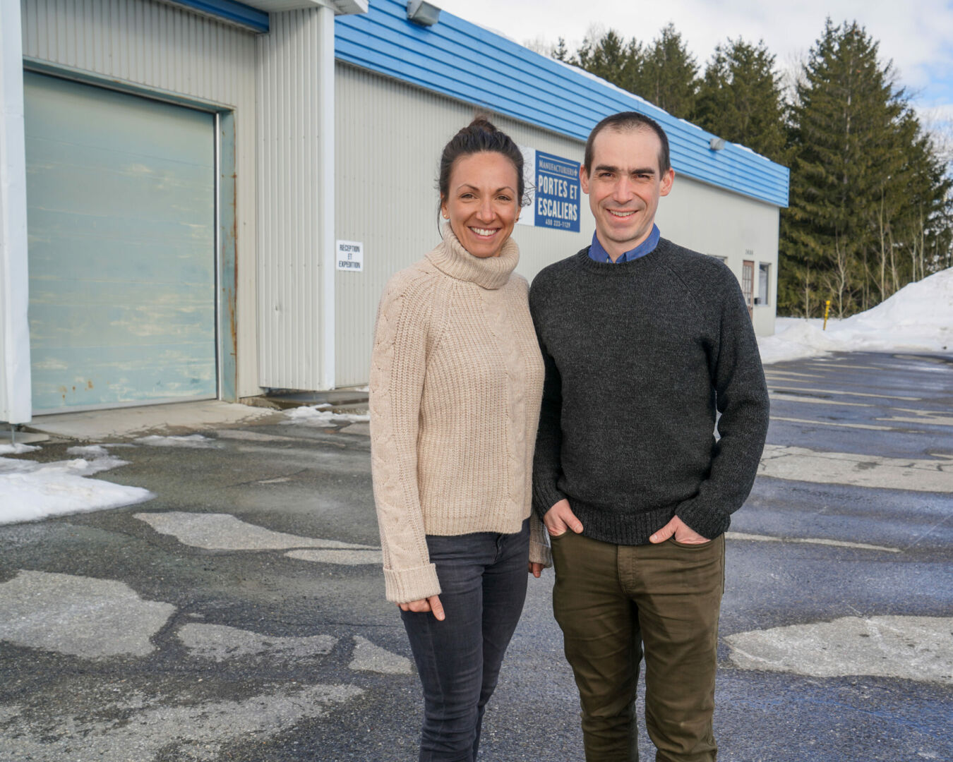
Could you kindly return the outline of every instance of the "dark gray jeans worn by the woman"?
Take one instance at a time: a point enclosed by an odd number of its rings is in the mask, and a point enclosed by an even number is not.
[[[420,762],[473,762],[486,702],[526,598],[529,520],[516,534],[427,535],[446,619],[401,612],[423,685]]]

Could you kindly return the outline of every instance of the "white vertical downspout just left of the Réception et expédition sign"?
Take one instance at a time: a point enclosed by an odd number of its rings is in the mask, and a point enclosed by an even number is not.
[[[335,389],[335,11],[317,9],[320,65],[318,99],[318,259],[320,272],[321,389]]]

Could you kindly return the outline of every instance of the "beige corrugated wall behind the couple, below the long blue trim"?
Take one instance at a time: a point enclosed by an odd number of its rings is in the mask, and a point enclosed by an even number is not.
[[[335,110],[335,236],[364,244],[364,271],[338,271],[336,279],[336,381],[345,387],[367,383],[377,300],[388,277],[439,241],[440,151],[479,110],[341,62]],[[582,142],[492,118],[521,146],[582,161]],[[579,211],[578,233],[517,225],[517,272],[532,280],[546,265],[588,246],[595,224],[585,195]],[[678,176],[675,190],[661,201],[658,222],[667,238],[728,257],[737,275],[748,249],[777,271],[778,208],[770,204]],[[773,331],[773,319],[770,330],[760,323],[759,332]]]

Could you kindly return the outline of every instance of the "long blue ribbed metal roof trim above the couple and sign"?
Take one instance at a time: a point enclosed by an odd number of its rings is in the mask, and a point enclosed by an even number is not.
[[[372,0],[367,13],[335,19],[335,56],[578,140],[610,113],[639,111],[664,128],[681,174],[787,206],[786,167],[733,143],[711,150],[713,133],[446,11],[420,27],[405,3]]]

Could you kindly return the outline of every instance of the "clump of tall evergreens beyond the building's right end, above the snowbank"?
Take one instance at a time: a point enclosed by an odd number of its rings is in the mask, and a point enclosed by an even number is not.
[[[779,308],[866,310],[948,261],[946,167],[857,22],[830,19],[791,112]],[[946,259],[944,260],[944,257]]]

